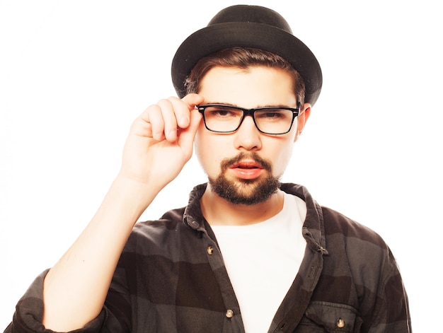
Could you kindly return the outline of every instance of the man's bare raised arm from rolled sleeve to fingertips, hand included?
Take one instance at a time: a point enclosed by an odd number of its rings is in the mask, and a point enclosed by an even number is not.
[[[79,238],[45,278],[43,325],[67,332],[84,327],[103,308],[123,247],[156,194],[192,155],[201,115],[199,95],[148,107],[132,124],[122,168]]]

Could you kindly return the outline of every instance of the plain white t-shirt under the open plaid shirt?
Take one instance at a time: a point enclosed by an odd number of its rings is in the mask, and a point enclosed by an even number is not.
[[[211,226],[241,309],[246,333],[267,332],[299,271],[305,202],[284,194],[283,209],[248,226]]]

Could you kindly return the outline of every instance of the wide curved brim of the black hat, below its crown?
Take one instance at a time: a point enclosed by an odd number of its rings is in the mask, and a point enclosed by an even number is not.
[[[172,62],[172,80],[178,96],[185,96],[185,79],[200,59],[230,47],[253,47],[280,55],[304,79],[305,103],[316,103],[323,78],[321,67],[311,50],[284,30],[252,22],[209,25],[190,35],[180,45]]]

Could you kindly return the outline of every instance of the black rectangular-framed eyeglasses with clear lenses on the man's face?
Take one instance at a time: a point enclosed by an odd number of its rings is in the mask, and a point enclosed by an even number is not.
[[[251,115],[255,127],[271,135],[286,134],[291,130],[299,108],[293,107],[257,107],[243,109],[231,105],[207,104],[197,105],[197,110],[203,115],[205,127],[211,132],[232,133],[240,127],[243,119]]]

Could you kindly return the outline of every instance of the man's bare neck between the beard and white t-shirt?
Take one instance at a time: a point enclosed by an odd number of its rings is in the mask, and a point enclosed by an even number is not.
[[[278,214],[284,203],[284,193],[278,190],[275,194],[259,204],[233,204],[212,192],[208,184],[200,199],[202,214],[209,225],[213,226],[247,226],[271,218]]]

